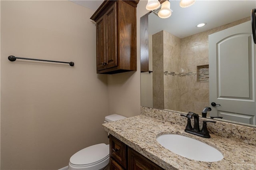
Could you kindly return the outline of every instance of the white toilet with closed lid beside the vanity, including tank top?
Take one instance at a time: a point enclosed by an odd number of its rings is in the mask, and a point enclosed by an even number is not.
[[[122,115],[108,115],[106,122],[125,119]],[[88,146],[71,156],[68,170],[104,170],[109,163],[109,144],[95,144]]]

